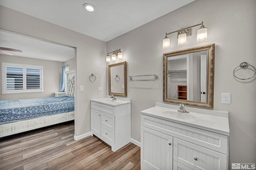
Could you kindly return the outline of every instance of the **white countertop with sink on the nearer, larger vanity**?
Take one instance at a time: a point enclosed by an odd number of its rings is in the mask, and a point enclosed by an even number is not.
[[[176,107],[179,108],[179,106],[176,106]],[[208,110],[206,112],[211,112],[211,110],[210,111]],[[216,112],[216,111],[213,111],[213,112]],[[171,114],[168,114],[168,113],[171,113]],[[225,112],[225,113],[228,113],[228,112]],[[214,115],[194,113],[194,112],[180,113],[177,111],[177,109],[171,109],[171,108],[159,107],[159,106],[155,106],[155,107],[151,107],[149,109],[143,110],[141,111],[141,114],[229,136],[228,116],[221,117],[221,116],[214,116]],[[179,119],[178,118],[179,116],[182,116],[183,118]]]

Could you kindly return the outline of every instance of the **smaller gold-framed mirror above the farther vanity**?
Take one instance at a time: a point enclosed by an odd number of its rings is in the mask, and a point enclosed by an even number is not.
[[[126,61],[108,65],[108,92],[127,97]]]

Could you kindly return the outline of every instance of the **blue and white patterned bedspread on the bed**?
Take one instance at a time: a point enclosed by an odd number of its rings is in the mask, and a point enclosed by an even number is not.
[[[74,111],[74,97],[0,101],[0,122],[31,119]]]

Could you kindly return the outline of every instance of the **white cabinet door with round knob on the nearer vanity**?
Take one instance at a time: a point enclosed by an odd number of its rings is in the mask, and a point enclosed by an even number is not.
[[[172,170],[172,137],[141,127],[141,169]]]

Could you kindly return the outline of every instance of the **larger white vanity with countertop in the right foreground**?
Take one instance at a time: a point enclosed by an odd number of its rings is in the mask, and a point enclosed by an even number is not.
[[[227,170],[228,112],[156,103],[141,111],[141,169]]]

